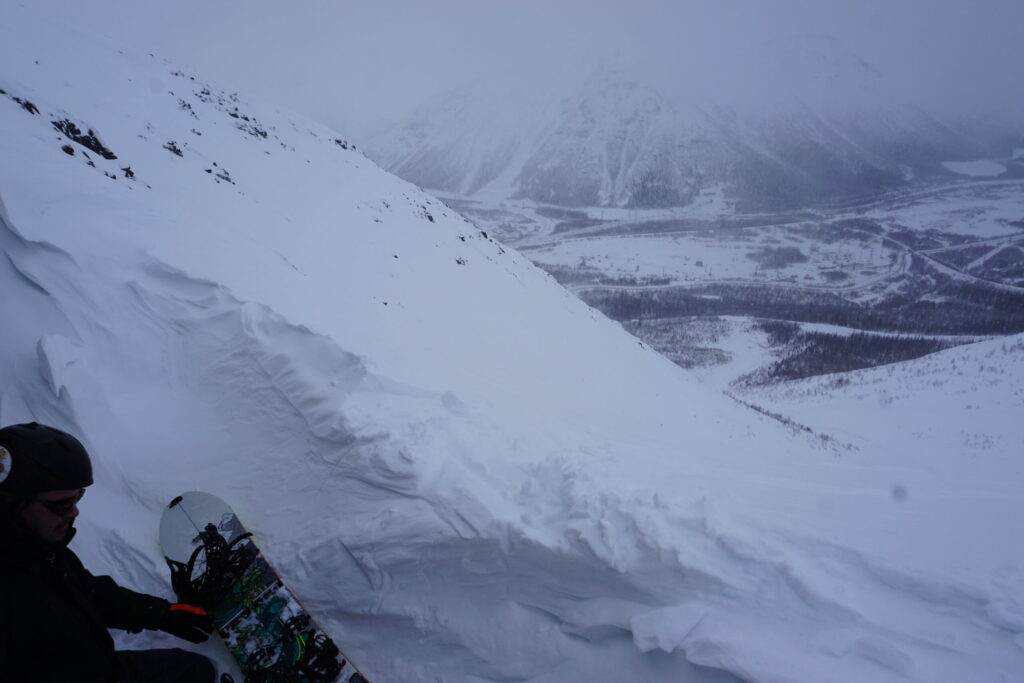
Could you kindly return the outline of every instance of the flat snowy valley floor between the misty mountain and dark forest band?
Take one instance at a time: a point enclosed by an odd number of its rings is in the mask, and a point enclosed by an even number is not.
[[[563,217],[527,203],[445,201],[573,288],[788,284],[856,293],[904,274],[911,253],[955,262],[950,252],[980,249],[971,264],[980,266],[1004,247],[1024,243],[1022,187],[1021,181],[950,185],[779,215],[736,214],[713,197],[710,205],[577,209]]]

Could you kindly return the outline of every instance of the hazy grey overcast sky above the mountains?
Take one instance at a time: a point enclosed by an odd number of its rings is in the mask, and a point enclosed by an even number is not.
[[[816,89],[807,45],[943,115],[1024,120],[1024,0],[18,1],[343,133],[475,79],[595,63],[723,97]]]

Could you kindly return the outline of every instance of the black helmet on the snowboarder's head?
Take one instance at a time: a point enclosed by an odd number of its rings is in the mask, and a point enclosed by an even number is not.
[[[36,422],[0,429],[0,494],[27,500],[91,483],[89,454],[71,434]]]

